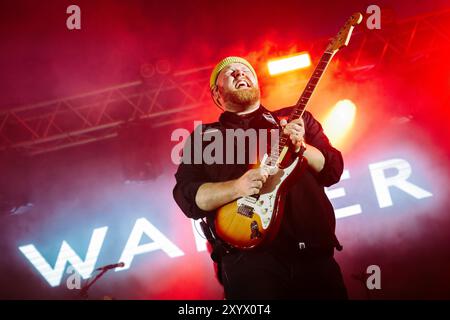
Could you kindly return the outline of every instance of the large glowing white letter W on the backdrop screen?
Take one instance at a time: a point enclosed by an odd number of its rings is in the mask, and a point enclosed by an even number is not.
[[[45,280],[47,280],[52,287],[56,287],[61,282],[66,263],[70,263],[83,279],[90,277],[94,270],[95,263],[97,262],[97,257],[102,248],[107,231],[108,227],[97,228],[94,230],[84,261],[81,260],[66,241],[63,241],[54,268],[50,266],[33,244],[21,246],[19,247],[19,250],[39,271]]]

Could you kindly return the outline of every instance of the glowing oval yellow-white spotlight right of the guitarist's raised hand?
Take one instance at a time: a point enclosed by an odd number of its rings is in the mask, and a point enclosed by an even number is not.
[[[323,121],[323,129],[331,143],[340,146],[355,121],[356,105],[348,99],[338,101]]]

